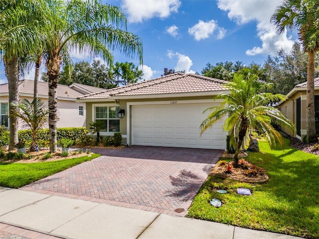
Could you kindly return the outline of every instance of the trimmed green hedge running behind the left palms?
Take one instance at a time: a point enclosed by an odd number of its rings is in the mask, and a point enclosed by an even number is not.
[[[69,128],[57,128],[56,139],[68,138],[71,140],[80,139],[86,136],[88,130],[85,127],[69,127]],[[49,129],[39,129],[37,134],[37,140],[49,140]],[[31,141],[32,131],[31,129],[22,129],[18,131],[19,141]]]

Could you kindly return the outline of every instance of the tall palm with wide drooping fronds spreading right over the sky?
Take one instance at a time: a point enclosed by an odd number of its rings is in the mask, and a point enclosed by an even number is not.
[[[120,8],[97,0],[46,0],[46,20],[51,29],[45,34],[44,58],[49,85],[50,151],[56,152],[57,95],[60,67],[69,60],[69,51],[100,55],[113,65],[111,51],[118,50],[143,63],[142,41],[126,30],[126,17]]]

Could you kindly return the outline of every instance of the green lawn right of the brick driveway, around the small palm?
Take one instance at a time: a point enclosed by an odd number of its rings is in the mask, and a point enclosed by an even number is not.
[[[319,238],[319,156],[289,147],[271,150],[259,141],[260,153],[247,161],[263,167],[269,176],[264,184],[240,183],[208,177],[199,190],[188,217],[305,238]],[[236,194],[249,188],[252,196]],[[218,194],[216,189],[229,193]],[[222,201],[220,208],[209,201]]]

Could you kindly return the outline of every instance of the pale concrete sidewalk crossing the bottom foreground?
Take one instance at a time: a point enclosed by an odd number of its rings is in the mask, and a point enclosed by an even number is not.
[[[296,238],[3,187],[0,187],[1,235],[22,239]]]

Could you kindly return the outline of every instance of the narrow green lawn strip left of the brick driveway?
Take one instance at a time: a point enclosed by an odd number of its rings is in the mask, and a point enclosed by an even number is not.
[[[92,154],[91,157],[39,163],[0,163],[0,186],[19,188],[99,156]]]

